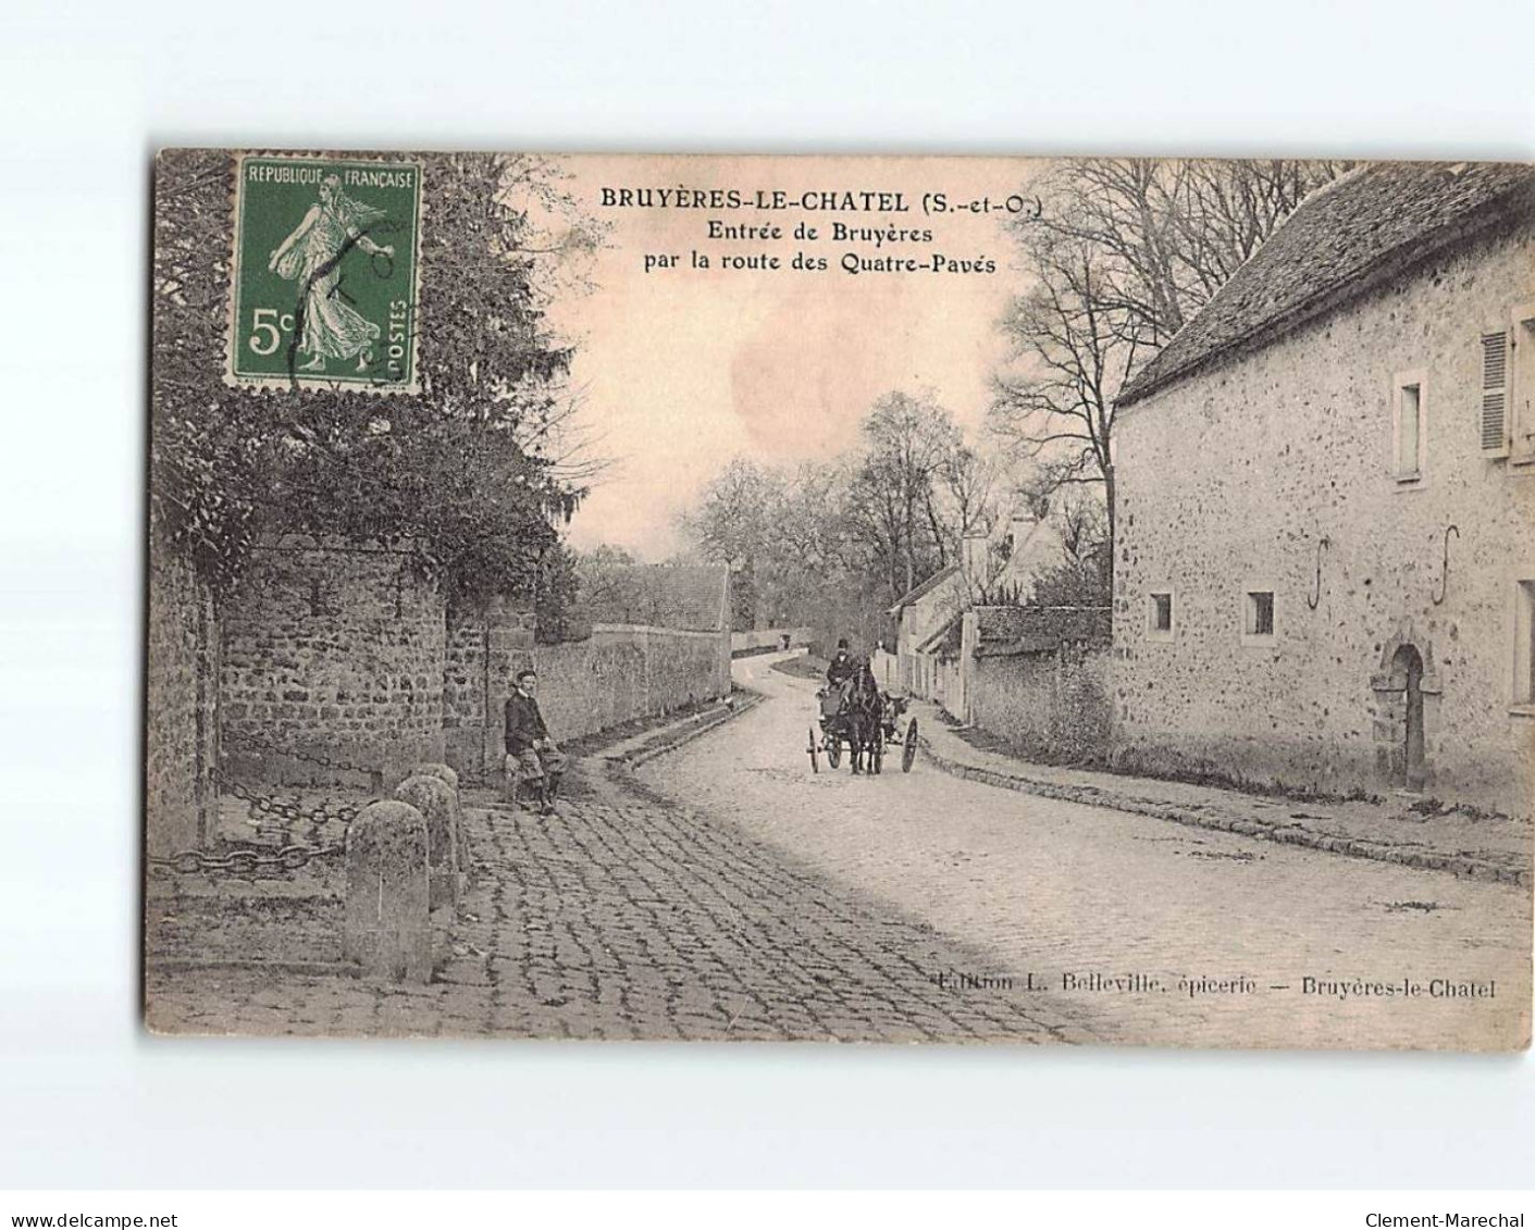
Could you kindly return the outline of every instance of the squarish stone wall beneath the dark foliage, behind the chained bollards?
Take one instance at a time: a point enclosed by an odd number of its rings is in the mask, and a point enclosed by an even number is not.
[[[444,604],[405,554],[259,548],[221,626],[223,742],[236,775],[362,785],[381,775],[391,787],[442,759]]]

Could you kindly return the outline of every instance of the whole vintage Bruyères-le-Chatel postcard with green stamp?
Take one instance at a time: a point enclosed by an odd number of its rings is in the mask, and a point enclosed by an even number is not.
[[[167,150],[160,1034],[1530,1040],[1535,167]]]

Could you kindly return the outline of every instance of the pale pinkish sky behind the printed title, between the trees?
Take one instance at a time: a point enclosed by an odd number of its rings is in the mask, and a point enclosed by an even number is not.
[[[923,196],[950,202],[1019,192],[1041,163],[1007,158],[668,158],[560,160],[588,213],[608,222],[594,290],[565,298],[551,317],[577,342],[574,383],[583,419],[616,465],[576,514],[576,548],[612,543],[662,560],[680,540],[675,517],[734,455],[774,465],[827,459],[857,440],[858,420],[884,393],[932,388],[975,432],[987,380],[1005,345],[995,322],[1019,288],[1005,213],[924,216]],[[781,190],[901,192],[906,213],[791,207],[603,207],[608,189],[735,189],[748,199]],[[878,201],[873,202],[876,207]],[[711,219],[783,229],[778,241],[711,241]],[[795,242],[794,229],[820,230]],[[832,225],[930,229],[932,242],[834,242]],[[695,270],[689,253],[771,252],[778,271]],[[826,271],[789,267],[795,252]],[[846,253],[996,262],[996,273],[844,273]],[[680,258],[643,268],[646,253]]]

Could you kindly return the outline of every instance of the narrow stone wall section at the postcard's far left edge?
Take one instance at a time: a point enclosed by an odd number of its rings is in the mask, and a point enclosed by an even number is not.
[[[200,848],[212,827],[218,762],[218,624],[213,600],[167,549],[149,569],[144,681],[144,844],[155,856]]]

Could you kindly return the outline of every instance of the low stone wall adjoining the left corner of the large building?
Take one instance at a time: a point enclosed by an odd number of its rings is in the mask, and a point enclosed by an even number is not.
[[[1018,755],[1051,762],[1104,762],[1110,750],[1107,644],[1062,641],[1053,650],[970,663],[970,721]]]

